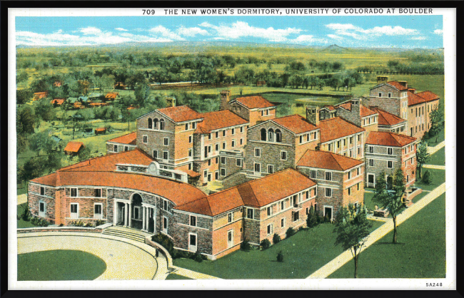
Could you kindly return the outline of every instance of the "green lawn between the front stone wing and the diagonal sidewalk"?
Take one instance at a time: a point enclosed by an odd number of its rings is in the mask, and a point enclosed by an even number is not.
[[[373,223],[373,230],[383,222]],[[216,261],[201,263],[188,259],[173,260],[174,265],[223,279],[301,279],[321,268],[343,252],[335,246],[335,225],[321,224],[298,232],[267,250],[238,250]],[[277,262],[279,251],[283,262]]]

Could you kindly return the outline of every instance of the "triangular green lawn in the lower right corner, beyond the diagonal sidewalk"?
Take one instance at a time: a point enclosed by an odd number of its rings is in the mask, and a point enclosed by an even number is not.
[[[398,243],[388,233],[358,260],[360,278],[444,278],[446,264],[445,194],[398,227]],[[328,278],[352,278],[354,261]]]

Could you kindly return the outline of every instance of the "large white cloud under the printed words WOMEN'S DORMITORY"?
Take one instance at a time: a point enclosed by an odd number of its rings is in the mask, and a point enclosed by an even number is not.
[[[218,37],[226,39],[237,39],[241,37],[256,37],[256,38],[265,38],[268,41],[286,41],[287,37],[290,34],[299,34],[302,29],[296,28],[287,28],[287,29],[273,29],[273,27],[268,28],[258,28],[248,25],[244,21],[236,21],[233,24],[220,26],[215,26],[209,24],[208,22],[203,22],[199,26],[211,28],[216,31]]]

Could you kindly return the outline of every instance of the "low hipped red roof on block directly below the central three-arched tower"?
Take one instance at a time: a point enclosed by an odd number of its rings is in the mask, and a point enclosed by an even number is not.
[[[363,163],[363,161],[336,153],[306,150],[306,153],[298,161],[297,166],[344,171]]]

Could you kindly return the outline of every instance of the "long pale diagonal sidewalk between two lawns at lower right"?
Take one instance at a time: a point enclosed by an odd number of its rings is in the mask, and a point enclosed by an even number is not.
[[[428,205],[428,203],[435,200],[439,195],[442,195],[443,192],[445,192],[445,183],[436,187],[428,195],[425,195],[425,197],[420,199],[414,205],[412,205],[411,207],[408,207],[408,209],[400,213],[400,215],[396,217],[396,225],[399,226],[401,223],[405,222],[405,220],[408,220],[409,217],[415,215],[416,212],[418,212],[423,207]],[[373,245],[377,240],[387,235],[392,230],[393,230],[393,220],[389,222],[385,222],[384,225],[378,227],[377,230],[370,233],[370,235],[368,236],[368,240],[365,242],[365,245],[360,252],[363,252],[363,250],[370,247],[370,245]],[[342,267],[344,264],[349,262],[351,259],[353,259],[353,255],[351,255],[350,250],[346,250],[345,252],[342,252],[341,255],[331,260],[331,262],[328,262],[323,267],[321,267],[316,272],[314,272],[313,274],[311,274],[310,276],[306,278],[311,278],[311,279],[326,278],[329,275],[331,275],[333,272],[336,272],[338,268]]]

